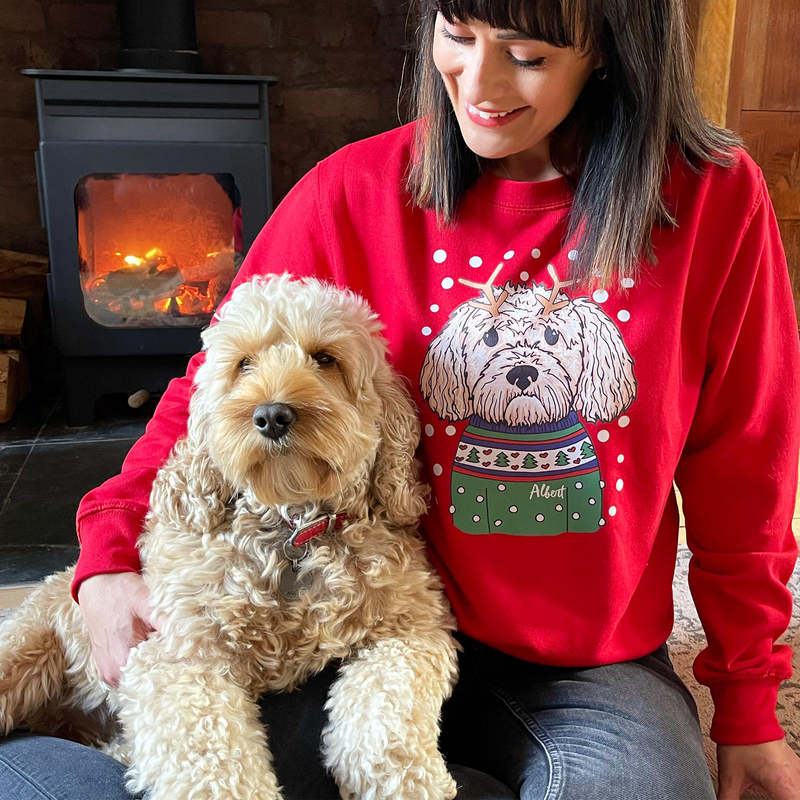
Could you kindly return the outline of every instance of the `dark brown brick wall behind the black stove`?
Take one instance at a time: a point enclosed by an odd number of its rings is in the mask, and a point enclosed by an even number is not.
[[[197,0],[204,72],[278,78],[270,88],[276,204],[321,158],[399,124],[406,14],[403,0]],[[0,249],[47,252],[34,81],[19,70],[114,69],[115,16],[103,0],[0,2]],[[406,85],[408,75],[409,65]]]

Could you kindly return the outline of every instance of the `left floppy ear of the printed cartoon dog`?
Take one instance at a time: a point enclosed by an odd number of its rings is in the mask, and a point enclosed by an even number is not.
[[[428,405],[442,418],[466,419],[472,414],[472,398],[466,386],[467,318],[474,310],[462,303],[430,342],[419,390]]]

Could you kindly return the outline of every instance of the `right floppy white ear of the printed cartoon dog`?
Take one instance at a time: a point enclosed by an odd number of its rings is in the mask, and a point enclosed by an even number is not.
[[[589,298],[575,298],[572,309],[581,318],[584,346],[575,410],[587,422],[610,422],[636,397],[634,359],[602,308]]]

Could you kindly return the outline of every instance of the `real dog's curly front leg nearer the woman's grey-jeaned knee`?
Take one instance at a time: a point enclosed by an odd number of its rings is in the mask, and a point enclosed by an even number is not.
[[[325,765],[342,798],[455,797],[438,735],[457,664],[453,638],[437,630],[382,639],[342,666],[322,731]]]

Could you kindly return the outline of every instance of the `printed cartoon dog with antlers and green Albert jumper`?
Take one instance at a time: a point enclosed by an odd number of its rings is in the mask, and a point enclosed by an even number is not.
[[[450,475],[453,524],[468,534],[554,535],[604,524],[601,470],[586,422],[636,397],[634,360],[590,298],[553,287],[458,278],[482,298],[458,306],[430,343],[420,390],[442,420],[468,420]],[[579,416],[580,414],[580,416]]]

